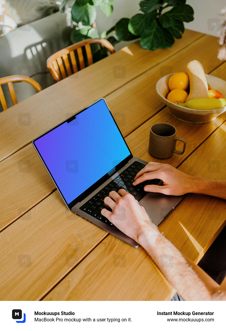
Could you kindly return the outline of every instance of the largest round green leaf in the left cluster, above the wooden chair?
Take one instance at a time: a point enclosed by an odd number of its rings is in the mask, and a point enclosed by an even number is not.
[[[85,6],[78,6],[74,3],[71,14],[76,23],[82,22],[83,25],[91,25],[96,19],[96,8],[88,3]]]

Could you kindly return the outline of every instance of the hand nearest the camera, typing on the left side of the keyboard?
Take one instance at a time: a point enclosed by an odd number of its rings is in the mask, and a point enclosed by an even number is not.
[[[155,230],[144,208],[126,190],[121,189],[118,193],[111,191],[109,196],[104,198],[104,203],[112,212],[102,209],[101,214],[136,242],[139,243],[139,238],[145,233]]]

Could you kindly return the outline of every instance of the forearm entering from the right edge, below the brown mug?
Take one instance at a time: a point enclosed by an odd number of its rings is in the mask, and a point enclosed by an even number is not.
[[[226,199],[226,180],[194,176],[191,192]]]

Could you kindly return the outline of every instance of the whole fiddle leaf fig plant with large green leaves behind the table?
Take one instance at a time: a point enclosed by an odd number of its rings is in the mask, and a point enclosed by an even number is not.
[[[113,11],[114,0],[63,0],[61,11],[70,6],[75,28],[71,41],[76,43],[87,38],[98,38],[96,26],[96,7],[99,7],[106,17]],[[130,41],[140,38],[141,46],[151,51],[157,48],[169,48],[175,38],[180,39],[184,33],[184,22],[194,20],[194,11],[186,0],[142,0],[141,13],[132,18],[122,18],[108,31],[101,33],[114,46],[120,41]],[[95,61],[107,56],[105,47],[98,48],[92,44]]]

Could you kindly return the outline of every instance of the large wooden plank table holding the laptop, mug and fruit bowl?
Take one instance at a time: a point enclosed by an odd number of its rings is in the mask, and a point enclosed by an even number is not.
[[[1,300],[170,300],[175,293],[139,247],[134,249],[69,212],[31,145],[33,138],[104,97],[134,156],[148,154],[149,127],[176,126],[183,155],[165,162],[190,174],[225,178],[226,114],[210,123],[172,117],[156,96],[157,80],[199,60],[226,79],[217,39],[186,30],[154,52],[139,43],[79,71],[0,114]],[[198,262],[226,224],[225,201],[188,194],[159,226]]]

